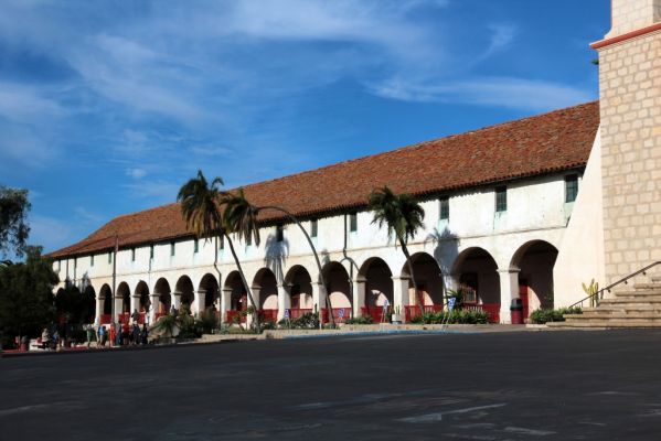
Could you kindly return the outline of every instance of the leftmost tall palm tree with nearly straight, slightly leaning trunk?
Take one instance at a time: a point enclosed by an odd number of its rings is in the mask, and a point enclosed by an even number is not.
[[[232,257],[234,257],[234,262],[238,269],[241,280],[248,294],[248,299],[253,308],[256,309],[253,292],[246,281],[243,268],[241,267],[241,262],[234,250],[234,244],[232,243],[227,228],[225,228],[223,216],[218,209],[218,203],[222,202],[223,196],[225,195],[225,193],[220,190],[220,185],[223,185],[223,180],[221,178],[215,178],[211,184],[209,184],[202,170],[198,170],[198,176],[189,180],[189,182],[181,186],[179,194],[177,195],[177,201],[181,203],[181,214],[186,222],[188,228],[192,229],[198,237],[203,238],[206,243],[213,237],[220,235],[225,236],[232,251]],[[255,323],[257,330],[259,330],[258,318]]]

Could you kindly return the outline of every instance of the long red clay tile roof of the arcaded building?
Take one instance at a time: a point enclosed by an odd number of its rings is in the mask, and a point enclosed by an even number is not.
[[[440,192],[585,166],[599,126],[599,103],[504,122],[397,150],[340,162],[244,187],[255,205],[280,205],[297,216],[360,208],[388,185],[420,197]],[[174,197],[174,195],[172,195]],[[277,220],[263,213],[262,220]],[[50,257],[109,250],[190,236],[179,204],[119,216]]]

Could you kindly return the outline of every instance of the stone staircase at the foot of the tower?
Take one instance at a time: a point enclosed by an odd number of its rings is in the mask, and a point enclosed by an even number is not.
[[[583,314],[566,314],[565,322],[547,323],[557,329],[661,327],[661,277],[618,290]]]

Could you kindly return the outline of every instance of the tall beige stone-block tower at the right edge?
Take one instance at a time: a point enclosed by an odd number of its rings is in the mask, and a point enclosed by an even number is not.
[[[606,280],[661,260],[661,0],[612,0],[599,53]]]

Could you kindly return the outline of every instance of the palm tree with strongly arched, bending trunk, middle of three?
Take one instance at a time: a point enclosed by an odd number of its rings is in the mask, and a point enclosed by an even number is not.
[[[249,203],[249,201],[245,197],[243,189],[238,189],[236,194],[227,195],[223,203],[225,204],[225,213],[224,217],[226,220],[226,225],[233,228],[241,238],[248,239],[253,238],[255,240],[255,245],[259,245],[259,228],[257,227],[257,215],[259,212],[265,209],[273,209],[285,214],[292,223],[298,225],[300,230],[306,236],[308,240],[308,245],[312,249],[312,254],[314,255],[314,260],[317,261],[317,268],[319,270],[319,277],[321,278],[321,286],[326,292],[326,308],[329,311],[329,318],[331,324],[334,326],[335,320],[332,313],[332,304],[330,301],[330,293],[328,291],[328,284],[326,283],[326,278],[323,277],[323,271],[321,269],[321,260],[319,260],[319,255],[317,254],[317,249],[312,244],[312,239],[310,239],[310,235],[306,228],[301,225],[301,223],[289,211],[277,206],[277,205],[264,205],[264,206],[255,206]],[[321,305],[319,305],[321,309]],[[320,313],[320,323],[321,323],[321,311]]]

